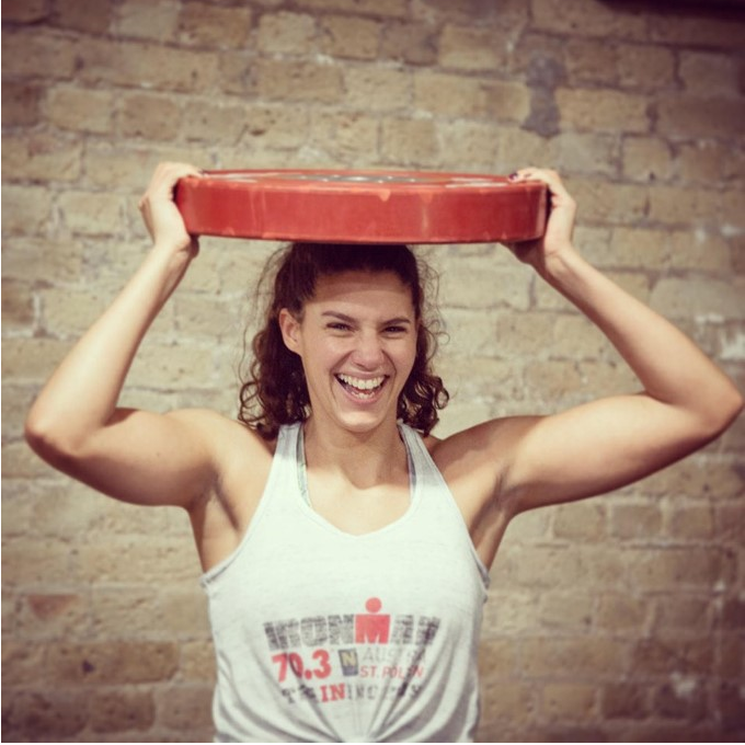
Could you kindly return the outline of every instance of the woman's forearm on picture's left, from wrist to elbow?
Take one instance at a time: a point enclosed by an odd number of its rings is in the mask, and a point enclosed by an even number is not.
[[[190,257],[152,250],[39,393],[30,440],[73,447],[111,420],[137,349],[186,271]]]

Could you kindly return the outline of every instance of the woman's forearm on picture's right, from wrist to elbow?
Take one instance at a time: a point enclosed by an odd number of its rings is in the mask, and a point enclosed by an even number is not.
[[[650,397],[715,428],[740,410],[730,378],[690,339],[576,252],[551,256],[541,274],[608,337]]]

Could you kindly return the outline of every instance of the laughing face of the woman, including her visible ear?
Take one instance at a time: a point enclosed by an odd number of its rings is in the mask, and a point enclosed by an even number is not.
[[[416,356],[411,290],[392,272],[319,278],[301,320],[283,310],[285,344],[302,359],[313,417],[351,432],[394,422]]]

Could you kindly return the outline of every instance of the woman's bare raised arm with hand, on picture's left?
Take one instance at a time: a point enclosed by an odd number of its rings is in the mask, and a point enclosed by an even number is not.
[[[31,447],[55,468],[116,498],[188,507],[214,478],[199,412],[123,410],[117,401],[150,324],[198,245],[172,193],[193,167],[162,164],[140,202],[153,248],[118,297],[46,383],[26,420]]]

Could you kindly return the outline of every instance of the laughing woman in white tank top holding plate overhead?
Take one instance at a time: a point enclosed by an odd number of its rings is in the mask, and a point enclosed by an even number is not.
[[[575,252],[572,197],[555,173],[525,169],[513,180],[545,182],[551,213],[542,239],[511,248],[596,323],[642,392],[437,439],[446,393],[408,249],[300,245],[254,344],[250,426],[117,408],[142,336],[197,254],[172,198],[186,175],[199,172],[156,171],[140,203],[152,251],[41,392],[30,444],[115,498],[187,511],[216,642],[218,740],[471,740],[481,606],[511,518],[688,455],[742,397]]]

